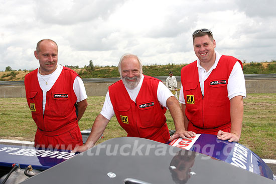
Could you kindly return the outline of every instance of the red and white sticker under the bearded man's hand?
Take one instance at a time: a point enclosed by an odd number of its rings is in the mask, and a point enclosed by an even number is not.
[[[173,140],[172,142],[170,142],[169,145],[189,150],[194,145],[194,143],[196,142],[196,140],[200,135],[201,134],[196,134],[195,136],[190,138],[179,137]]]

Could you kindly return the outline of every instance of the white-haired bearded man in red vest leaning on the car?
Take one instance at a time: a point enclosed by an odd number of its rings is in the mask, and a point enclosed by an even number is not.
[[[162,81],[142,74],[142,63],[137,56],[123,55],[118,70],[121,80],[109,86],[102,111],[96,117],[86,143],[73,152],[93,147],[114,114],[127,136],[166,143],[177,137],[195,135],[185,130],[184,116],[177,99]],[[171,138],[165,117],[167,108],[176,128]]]

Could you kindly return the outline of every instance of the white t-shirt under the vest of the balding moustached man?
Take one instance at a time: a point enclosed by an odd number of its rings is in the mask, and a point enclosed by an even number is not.
[[[63,69],[63,66],[58,64],[57,69],[49,75],[41,75],[39,72],[37,73],[38,82],[39,82],[40,88],[43,91],[43,102],[42,102],[43,114],[44,114],[45,104],[46,104],[46,93],[53,87],[59,75],[61,74],[62,69]],[[46,82],[47,82],[47,85],[46,85]],[[77,102],[80,102],[87,98],[83,81],[79,76],[76,77],[73,83],[73,90],[77,96]]]

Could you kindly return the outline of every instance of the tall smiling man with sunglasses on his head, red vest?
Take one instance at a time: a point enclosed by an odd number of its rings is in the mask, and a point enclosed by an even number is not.
[[[215,51],[210,30],[196,30],[192,36],[198,60],[182,68],[179,95],[185,128],[238,142],[246,97],[242,63]]]

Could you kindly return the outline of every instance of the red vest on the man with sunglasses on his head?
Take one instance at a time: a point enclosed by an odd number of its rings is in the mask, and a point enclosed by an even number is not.
[[[217,67],[204,81],[204,97],[198,78],[197,61],[182,68],[181,83],[186,102],[185,114],[189,124],[192,123],[200,129],[211,129],[210,131],[231,127],[227,84],[237,61],[242,67],[240,60],[232,56],[221,56]]]

